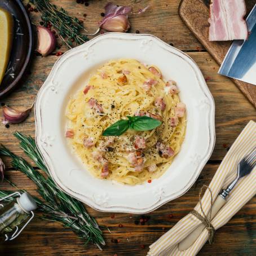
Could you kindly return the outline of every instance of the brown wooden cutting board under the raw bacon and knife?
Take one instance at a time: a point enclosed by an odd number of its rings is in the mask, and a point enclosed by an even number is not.
[[[182,0],[179,6],[179,15],[187,27],[195,34],[196,38],[213,56],[220,65],[228,51],[231,41],[209,42],[209,2],[208,0]],[[247,12],[255,5],[255,0],[246,1]],[[256,86],[232,79],[242,93],[256,108]]]

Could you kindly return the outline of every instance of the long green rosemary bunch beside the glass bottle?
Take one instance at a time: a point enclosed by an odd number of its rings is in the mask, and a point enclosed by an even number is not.
[[[62,223],[64,227],[71,228],[78,237],[85,239],[85,244],[91,242],[101,250],[101,245],[105,245],[105,241],[96,220],[90,217],[82,202],[70,197],[56,186],[43,162],[34,139],[18,132],[14,133],[14,135],[20,140],[20,148],[46,175],[35,170],[22,157],[16,156],[3,145],[0,148],[0,154],[11,157],[12,166],[26,174],[36,184],[37,192],[45,200],[43,202],[35,198],[38,210],[43,213],[42,218]],[[10,192],[0,191],[1,197],[5,195],[10,195]]]

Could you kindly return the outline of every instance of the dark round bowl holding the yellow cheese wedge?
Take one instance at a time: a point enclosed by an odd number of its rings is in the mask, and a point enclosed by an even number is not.
[[[0,7],[14,17],[14,38],[5,77],[0,85],[0,98],[19,86],[33,50],[33,31],[29,16],[20,0],[1,0]]]

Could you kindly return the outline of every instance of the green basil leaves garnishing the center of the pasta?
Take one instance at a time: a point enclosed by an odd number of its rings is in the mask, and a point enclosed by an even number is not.
[[[103,131],[103,136],[120,136],[129,128],[135,131],[148,131],[161,125],[161,121],[147,116],[127,116],[127,120],[119,120]]]

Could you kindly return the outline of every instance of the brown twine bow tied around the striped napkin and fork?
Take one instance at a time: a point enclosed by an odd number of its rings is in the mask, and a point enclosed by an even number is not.
[[[210,195],[211,195],[211,208],[210,208],[209,218],[206,216],[204,210],[202,209],[201,194],[202,194],[203,188],[209,189]],[[211,224],[211,211],[213,210],[213,194],[211,193],[211,189],[206,185],[203,185],[200,189],[199,202],[200,202],[200,208],[201,208],[203,215],[198,213],[198,211],[196,211],[196,210],[192,210],[190,213],[193,214],[197,219],[199,219],[205,225],[206,229],[208,230],[209,244],[213,244],[213,237],[214,237],[214,232],[215,232],[215,229],[214,229],[213,225]]]

